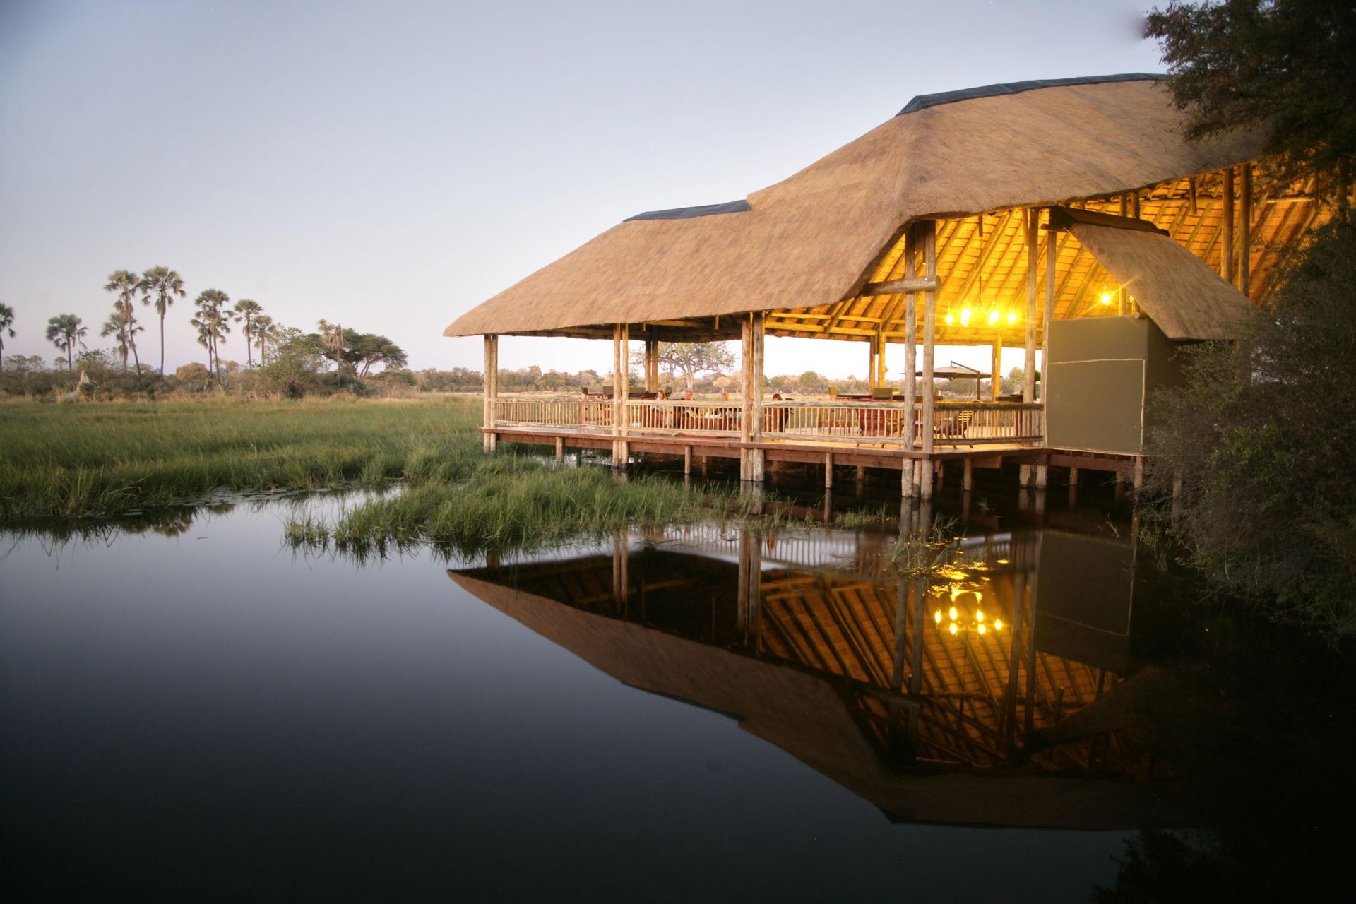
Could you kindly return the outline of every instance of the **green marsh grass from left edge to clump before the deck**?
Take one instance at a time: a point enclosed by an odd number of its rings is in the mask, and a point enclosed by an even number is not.
[[[220,491],[381,488],[298,545],[532,546],[626,527],[743,516],[738,493],[534,453],[481,451],[477,398],[0,407],[0,519],[137,512]]]

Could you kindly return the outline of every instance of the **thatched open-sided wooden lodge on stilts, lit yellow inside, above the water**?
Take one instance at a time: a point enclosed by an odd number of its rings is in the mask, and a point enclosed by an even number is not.
[[[1189,142],[1182,117],[1153,75],[926,95],[742,201],[631,217],[445,331],[485,336],[485,447],[738,457],[746,480],[770,461],[822,462],[826,482],[834,464],[898,468],[923,496],[948,459],[967,484],[1003,459],[1037,485],[1051,465],[1138,478],[1176,350],[1235,335],[1326,217],[1304,186],[1261,190],[1258,134]],[[502,335],[610,339],[610,392],[500,396]],[[864,343],[871,392],[767,398],[769,335]],[[660,397],[659,343],[731,339],[736,398]],[[991,398],[936,398],[938,344],[993,350]],[[1003,346],[1025,352],[1020,397],[999,396]]]

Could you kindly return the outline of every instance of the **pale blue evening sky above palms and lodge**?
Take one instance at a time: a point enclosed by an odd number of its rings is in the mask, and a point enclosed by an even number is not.
[[[57,313],[98,333],[107,274],[163,263],[190,291],[171,369],[203,358],[203,289],[479,369],[443,327],[624,217],[742,198],[914,95],[1159,72],[1149,5],[0,0],[5,352],[56,355]],[[610,347],[506,337],[500,361],[606,370]],[[769,340],[769,373],[810,367],[865,351]]]

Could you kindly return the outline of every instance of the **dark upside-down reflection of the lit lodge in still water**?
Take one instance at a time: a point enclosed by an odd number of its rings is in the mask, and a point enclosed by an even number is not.
[[[971,522],[921,579],[891,565],[896,539],[673,529],[449,576],[621,682],[738,718],[891,819],[1189,819],[1119,712],[1135,670],[1127,538]]]

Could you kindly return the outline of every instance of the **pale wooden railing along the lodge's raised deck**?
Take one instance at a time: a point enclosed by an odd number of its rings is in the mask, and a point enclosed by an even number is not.
[[[598,397],[504,396],[494,400],[492,409],[494,423],[500,427],[570,427],[612,432],[617,408],[613,400]],[[632,398],[625,403],[624,411],[628,434],[739,436],[743,422],[743,404],[738,401]],[[1040,443],[1045,435],[1044,415],[1040,403],[937,403],[933,445]],[[762,404],[763,439],[904,446],[911,438],[914,447],[919,447],[922,405],[914,407],[911,431],[904,419],[904,405],[895,401],[795,400]]]

